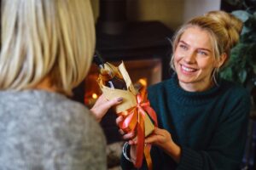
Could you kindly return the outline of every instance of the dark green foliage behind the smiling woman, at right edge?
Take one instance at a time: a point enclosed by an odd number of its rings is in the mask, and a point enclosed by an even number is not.
[[[232,14],[242,20],[244,26],[240,41],[231,50],[230,62],[220,76],[247,86],[247,82],[255,81],[256,77],[256,12],[246,9]],[[256,81],[253,84],[256,85]]]

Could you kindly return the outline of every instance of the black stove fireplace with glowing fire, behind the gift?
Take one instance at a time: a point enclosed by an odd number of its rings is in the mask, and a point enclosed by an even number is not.
[[[125,0],[100,0],[100,16],[96,23],[96,49],[102,58],[119,65],[124,61],[131,81],[146,80],[148,85],[170,77],[172,31],[159,21],[128,21]],[[91,65],[85,81],[74,91],[74,99],[87,106],[101,94],[96,83],[96,65]],[[108,144],[121,140],[113,111],[103,117],[102,127]]]

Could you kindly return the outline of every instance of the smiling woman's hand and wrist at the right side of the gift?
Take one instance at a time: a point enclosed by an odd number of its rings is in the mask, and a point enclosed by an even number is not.
[[[156,127],[154,132],[145,139],[145,144],[155,144],[165,150],[177,163],[180,161],[181,148],[172,140],[172,135],[165,129]]]

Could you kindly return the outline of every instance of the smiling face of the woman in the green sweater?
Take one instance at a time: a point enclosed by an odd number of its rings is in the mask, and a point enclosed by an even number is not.
[[[180,86],[191,92],[212,87],[216,62],[210,34],[197,26],[183,32],[174,51],[174,65]]]

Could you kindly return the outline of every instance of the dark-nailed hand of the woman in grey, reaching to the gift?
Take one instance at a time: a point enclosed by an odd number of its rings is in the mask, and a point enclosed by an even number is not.
[[[107,113],[107,111],[113,106],[113,105],[119,105],[122,103],[123,98],[116,98],[108,100],[106,99],[103,94],[96,100],[95,105],[90,109],[90,111],[93,113],[94,116],[96,116],[97,122],[100,122],[102,120],[102,117]]]

